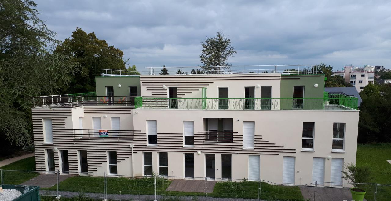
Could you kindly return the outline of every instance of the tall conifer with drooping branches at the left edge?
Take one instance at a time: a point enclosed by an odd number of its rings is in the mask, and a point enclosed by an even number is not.
[[[32,97],[56,93],[78,67],[71,55],[51,51],[60,41],[36,6],[31,0],[0,2],[0,135],[17,146],[32,143]]]

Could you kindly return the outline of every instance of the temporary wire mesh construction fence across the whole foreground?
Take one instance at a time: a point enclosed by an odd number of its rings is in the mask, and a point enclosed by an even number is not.
[[[175,176],[119,176],[106,173],[0,170],[1,184],[39,186],[41,196],[90,197],[126,201],[320,201],[351,183],[314,182],[282,185],[262,179],[220,179]],[[367,201],[391,200],[391,185],[359,184]],[[341,195],[343,193],[341,192]],[[332,199],[332,198],[330,198]],[[344,200],[341,197],[341,201]]]

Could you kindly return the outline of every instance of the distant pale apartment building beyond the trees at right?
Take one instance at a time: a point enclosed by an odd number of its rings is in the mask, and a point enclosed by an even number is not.
[[[345,66],[342,71],[334,71],[332,75],[343,77],[346,82],[352,84],[358,92],[361,92],[368,83],[373,83],[375,70],[373,66],[369,65],[365,65],[363,68]]]

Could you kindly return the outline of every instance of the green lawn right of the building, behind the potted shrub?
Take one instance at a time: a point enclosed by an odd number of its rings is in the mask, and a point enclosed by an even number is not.
[[[357,165],[365,165],[371,169],[371,180],[368,183],[391,185],[391,143],[374,145],[357,145]],[[367,190],[365,199],[373,200],[375,186],[364,186]],[[378,186],[377,200],[391,200],[391,186]]]

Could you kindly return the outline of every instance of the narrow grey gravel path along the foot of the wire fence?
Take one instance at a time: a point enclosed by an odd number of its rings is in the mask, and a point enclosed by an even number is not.
[[[54,190],[40,190],[39,194],[41,196],[57,196],[57,192]],[[75,196],[83,196],[83,197],[91,197],[96,200],[103,200],[104,194],[99,193],[79,193],[79,192],[70,192],[70,191],[61,191],[60,195],[62,197],[75,197]],[[167,196],[156,196],[157,200],[161,200],[166,198]],[[168,196],[170,197],[170,196]],[[173,196],[172,196],[173,197]],[[193,201],[194,197],[180,197],[180,200],[183,201]],[[107,194],[107,199],[109,200],[134,200],[134,201],[153,201],[153,195],[118,195],[118,194]],[[60,199],[61,200],[61,199]],[[197,197],[198,201],[258,201],[256,199],[244,199],[244,198],[221,198],[221,197]],[[260,200],[262,201],[262,200]]]

